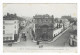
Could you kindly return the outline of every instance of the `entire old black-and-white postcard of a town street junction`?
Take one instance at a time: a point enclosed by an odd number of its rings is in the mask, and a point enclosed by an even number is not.
[[[3,3],[3,52],[77,51],[77,3]]]

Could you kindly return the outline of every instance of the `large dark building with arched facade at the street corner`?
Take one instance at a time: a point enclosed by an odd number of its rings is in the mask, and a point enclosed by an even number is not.
[[[54,17],[45,15],[35,15],[35,40],[51,41],[53,40]]]

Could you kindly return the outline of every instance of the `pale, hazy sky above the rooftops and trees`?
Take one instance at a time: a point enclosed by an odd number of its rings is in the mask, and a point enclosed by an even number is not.
[[[76,3],[44,3],[44,4],[3,4],[3,15],[8,13],[16,13],[18,16],[33,17],[36,14],[54,15],[55,18],[60,18],[64,15],[77,17],[77,4]]]

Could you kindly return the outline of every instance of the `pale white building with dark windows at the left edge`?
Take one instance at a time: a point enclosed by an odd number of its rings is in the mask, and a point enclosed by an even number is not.
[[[19,21],[3,20],[3,42],[15,42],[18,40]]]

